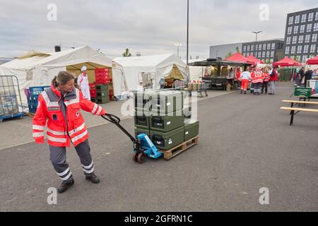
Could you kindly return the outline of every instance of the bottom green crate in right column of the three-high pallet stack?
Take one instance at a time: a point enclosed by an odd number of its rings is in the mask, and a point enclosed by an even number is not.
[[[168,133],[150,131],[151,141],[160,150],[169,150],[184,142],[184,126]]]

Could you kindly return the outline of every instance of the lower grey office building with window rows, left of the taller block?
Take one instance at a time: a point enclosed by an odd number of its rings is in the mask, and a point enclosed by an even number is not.
[[[266,64],[283,59],[284,39],[262,40],[254,42],[245,42],[242,44],[242,54],[244,57],[253,55]]]

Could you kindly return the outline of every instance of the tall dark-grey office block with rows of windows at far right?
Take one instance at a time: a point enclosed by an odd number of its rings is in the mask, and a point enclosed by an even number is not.
[[[283,53],[302,63],[318,55],[318,8],[288,13]]]

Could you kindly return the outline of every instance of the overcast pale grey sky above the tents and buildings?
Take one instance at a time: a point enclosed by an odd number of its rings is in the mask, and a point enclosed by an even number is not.
[[[48,4],[57,20],[47,20]],[[259,20],[268,4],[269,20]],[[318,7],[317,0],[190,0],[189,55],[207,58],[209,46],[284,37],[287,13]],[[133,55],[177,54],[187,47],[187,0],[1,0],[0,57],[30,50],[53,52],[89,45],[109,57],[128,47]]]

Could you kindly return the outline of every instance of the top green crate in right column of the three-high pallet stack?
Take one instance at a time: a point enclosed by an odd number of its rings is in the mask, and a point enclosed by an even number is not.
[[[151,111],[169,114],[183,109],[183,92],[164,91],[157,98],[152,99]]]

